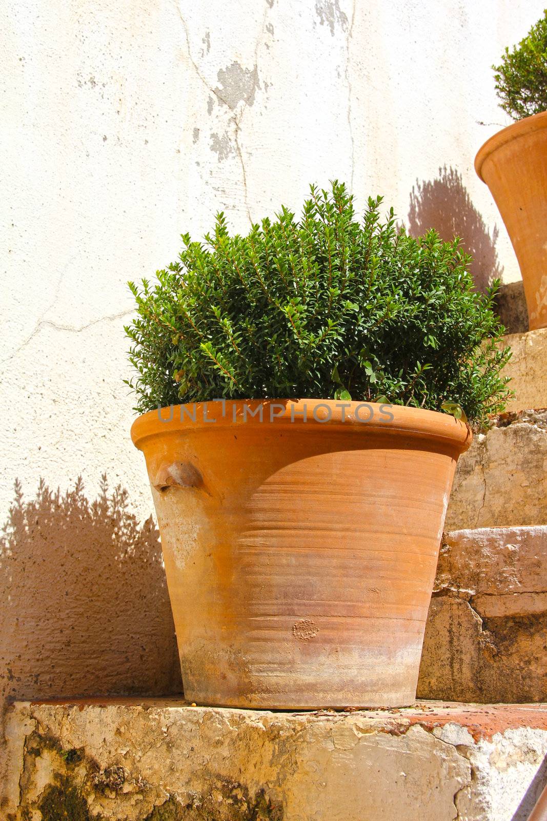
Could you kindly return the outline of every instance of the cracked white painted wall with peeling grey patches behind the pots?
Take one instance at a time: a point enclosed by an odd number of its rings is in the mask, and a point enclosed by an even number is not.
[[[446,165],[517,264],[472,163],[508,124],[490,64],[544,0],[7,0],[2,68],[0,511],[17,477],[152,509],[130,443],[129,278],[224,209],[239,231],[308,182],[408,218]],[[435,204],[433,210],[435,211]],[[431,209],[430,209],[431,210]],[[463,230],[463,229],[462,229]]]

